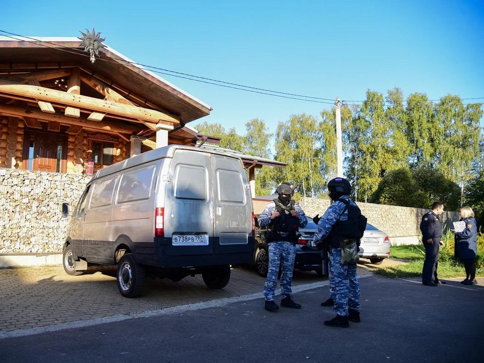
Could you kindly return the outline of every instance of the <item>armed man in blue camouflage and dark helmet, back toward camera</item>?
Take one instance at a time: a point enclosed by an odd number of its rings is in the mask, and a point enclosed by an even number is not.
[[[333,204],[328,207],[319,220],[314,241],[316,244],[329,244],[329,278],[330,285],[333,286],[330,292],[331,298],[334,299],[333,311],[337,315],[335,318],[325,321],[324,324],[330,327],[347,328],[348,320],[360,322],[360,287],[356,274],[356,262],[342,263],[342,237],[335,234],[333,228],[338,221],[348,219],[347,205],[356,206],[356,204],[349,199],[351,184],[344,178],[331,179],[328,183],[328,191]]]

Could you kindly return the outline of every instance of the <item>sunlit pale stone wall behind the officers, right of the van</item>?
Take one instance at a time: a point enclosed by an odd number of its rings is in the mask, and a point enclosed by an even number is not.
[[[322,216],[329,203],[329,198],[301,198],[300,201],[302,209],[309,217],[314,217],[318,213]],[[368,223],[386,232],[390,237],[418,236],[422,215],[430,210],[362,202],[357,204],[361,213],[368,218]],[[459,219],[459,212],[444,212],[440,218],[444,228],[450,227],[453,221]]]

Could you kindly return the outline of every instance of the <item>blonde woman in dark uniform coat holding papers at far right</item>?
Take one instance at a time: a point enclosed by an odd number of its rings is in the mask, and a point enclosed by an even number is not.
[[[464,221],[462,232],[455,232],[455,257],[464,264],[466,277],[461,281],[464,285],[477,285],[475,280],[475,257],[477,253],[477,225],[474,212],[470,207],[460,209],[460,220]]]

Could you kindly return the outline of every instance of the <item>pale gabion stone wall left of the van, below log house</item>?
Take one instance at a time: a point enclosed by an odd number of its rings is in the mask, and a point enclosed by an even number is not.
[[[0,168],[0,254],[61,253],[72,208],[89,180],[77,174]]]

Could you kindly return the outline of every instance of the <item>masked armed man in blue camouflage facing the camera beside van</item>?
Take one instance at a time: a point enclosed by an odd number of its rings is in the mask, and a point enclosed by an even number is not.
[[[300,309],[292,299],[292,271],[294,269],[295,243],[299,227],[305,227],[308,220],[301,207],[291,199],[293,187],[282,183],[277,187],[278,198],[270,202],[259,215],[261,227],[268,226],[267,243],[269,244],[269,270],[264,285],[265,309],[275,311],[279,306],[274,302],[274,291],[277,287],[277,275],[282,261],[281,306]]]

